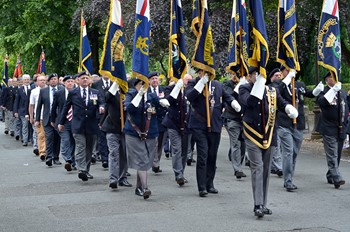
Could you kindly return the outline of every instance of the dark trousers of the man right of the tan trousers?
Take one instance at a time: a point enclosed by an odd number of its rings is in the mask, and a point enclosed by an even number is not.
[[[52,126],[44,126],[44,131],[46,135],[46,159],[58,160],[61,138]]]

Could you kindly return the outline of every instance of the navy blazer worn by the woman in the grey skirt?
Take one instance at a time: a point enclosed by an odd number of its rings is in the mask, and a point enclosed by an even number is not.
[[[136,94],[138,94],[136,89],[130,89],[129,92],[126,93],[125,107],[126,107],[127,115],[130,116],[132,122],[135,125],[137,125],[137,127],[140,130],[143,130],[142,129],[142,118],[144,119],[144,122],[146,123],[147,109],[150,107],[158,107],[159,106],[159,98],[154,93],[147,93],[147,101],[145,103],[143,103],[141,100],[139,107],[135,107],[133,104],[131,104],[131,101],[132,101],[132,99],[134,99]],[[142,111],[143,104],[144,104],[144,111]],[[139,137],[138,133],[131,125],[131,122],[129,121],[129,119],[127,119],[125,122],[124,133],[131,135],[131,136],[134,136],[134,137]],[[148,129],[147,138],[150,138],[150,139],[156,138],[158,136],[158,134],[159,134],[159,132],[158,132],[157,114],[152,114],[150,126]]]

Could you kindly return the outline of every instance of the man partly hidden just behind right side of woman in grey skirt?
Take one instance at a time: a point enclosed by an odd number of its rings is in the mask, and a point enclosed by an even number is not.
[[[155,93],[159,99],[164,99],[164,87],[159,86],[159,73],[158,72],[150,72],[148,74],[149,79],[149,88],[147,90],[148,93]],[[162,172],[162,169],[160,169],[160,158],[162,156],[163,152],[163,145],[165,142],[165,139],[167,137],[167,128],[162,125],[162,121],[166,115],[167,109],[159,105],[156,107],[157,111],[157,120],[158,120],[158,138],[156,140],[157,142],[157,154],[154,155],[153,160],[153,166],[152,171],[155,173]]]

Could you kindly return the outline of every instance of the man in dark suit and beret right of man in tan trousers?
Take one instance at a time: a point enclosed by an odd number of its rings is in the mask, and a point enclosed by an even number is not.
[[[46,165],[51,167],[52,162],[55,165],[61,165],[59,161],[60,154],[60,137],[57,130],[51,125],[51,107],[54,99],[54,94],[57,90],[62,89],[58,86],[58,75],[52,73],[49,75],[48,87],[40,89],[38,104],[35,114],[35,126],[40,126],[40,115],[41,109],[43,108],[43,121],[42,126],[44,127],[46,135]]]

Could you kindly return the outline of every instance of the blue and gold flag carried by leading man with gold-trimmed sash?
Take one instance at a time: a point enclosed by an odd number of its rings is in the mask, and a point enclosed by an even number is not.
[[[249,66],[258,67],[259,73],[266,78],[266,65],[269,60],[267,33],[264,20],[264,11],[261,0],[249,0],[252,25]]]

